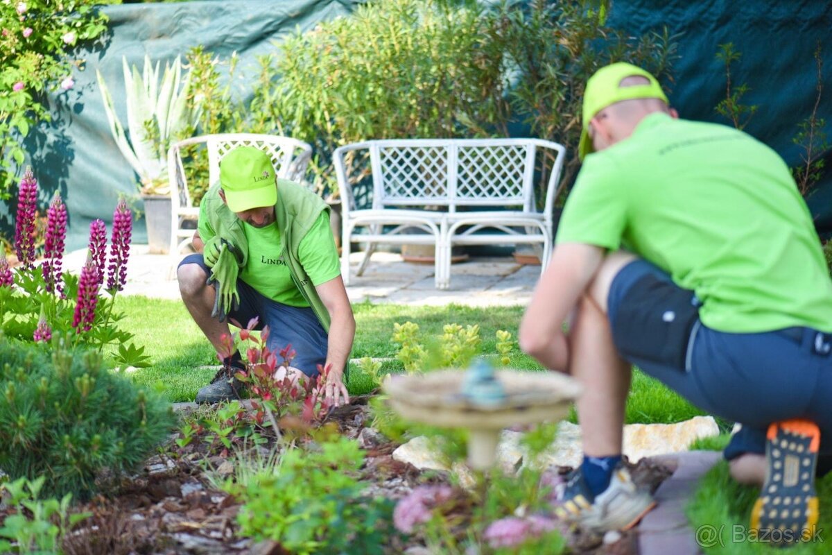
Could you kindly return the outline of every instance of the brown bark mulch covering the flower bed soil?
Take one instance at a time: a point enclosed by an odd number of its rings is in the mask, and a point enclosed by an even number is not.
[[[329,421],[341,433],[357,439],[366,453],[359,478],[367,483],[369,496],[402,498],[420,483],[446,482],[443,473],[423,473],[408,463],[395,460],[397,444],[369,428],[368,396],[334,411]],[[240,553],[243,555],[281,555],[286,553],[273,542],[253,543],[238,535],[236,515],[240,503],[227,493],[211,488],[201,464],[206,461],[215,473],[233,472],[232,461],[210,453],[207,444],[194,439],[185,448],[172,440],[166,454],[151,458],[141,473],[121,483],[118,493],[99,496],[73,510],[92,513],[73,533],[67,535],[67,555],[178,553]],[[227,453],[225,453],[227,454]],[[225,463],[225,465],[223,465]],[[557,468],[565,473],[569,468]],[[631,465],[636,483],[655,491],[671,474],[671,469],[642,459]],[[463,496],[464,497],[464,496]],[[470,510],[470,508],[468,508]],[[594,555],[635,555],[637,533],[598,537],[580,529],[561,529],[572,553]],[[408,546],[390,546],[390,553],[402,553]]]

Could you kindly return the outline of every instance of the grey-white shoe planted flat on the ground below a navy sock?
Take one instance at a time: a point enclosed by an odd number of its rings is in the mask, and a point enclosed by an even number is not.
[[[568,475],[567,482],[556,493],[557,517],[594,532],[632,528],[656,506],[650,493],[636,488],[624,463],[616,465],[610,485],[596,496],[589,490],[580,468]]]

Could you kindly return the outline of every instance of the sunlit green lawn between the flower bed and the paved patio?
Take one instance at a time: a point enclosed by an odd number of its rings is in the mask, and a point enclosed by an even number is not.
[[[136,334],[136,344],[145,345],[152,366],[136,370],[132,375],[141,384],[159,384],[171,401],[194,399],[196,391],[213,377],[213,370],[200,366],[217,364],[216,354],[199,328],[191,320],[185,305],[176,300],[156,300],[131,296],[117,300],[116,310],[125,313],[121,326]],[[394,323],[412,321],[419,325],[423,337],[433,337],[449,323],[480,326],[483,354],[494,354],[497,330],[508,330],[516,338],[524,307],[470,308],[449,305],[444,307],[372,305],[353,306],[356,334],[352,357],[394,357],[397,345],[391,340]],[[513,368],[540,370],[531,357],[515,350]],[[398,360],[385,361],[383,371],[398,372]],[[353,366],[349,378],[351,394],[368,393],[369,378]],[[636,370],[627,404],[627,422],[667,423],[689,419],[702,414],[679,395],[656,380]],[[572,416],[574,420],[574,415]]]

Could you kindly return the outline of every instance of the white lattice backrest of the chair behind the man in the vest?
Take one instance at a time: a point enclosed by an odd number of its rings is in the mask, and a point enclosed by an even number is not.
[[[255,133],[224,133],[195,136],[172,145],[167,153],[168,175],[174,213],[181,207],[191,206],[187,180],[182,166],[182,148],[204,143],[208,151],[209,185],[220,179],[220,161],[238,146],[256,146],[271,156],[275,173],[282,179],[300,181],[306,173],[312,156],[312,146],[288,136],[258,135]],[[176,190],[174,190],[174,184]]]

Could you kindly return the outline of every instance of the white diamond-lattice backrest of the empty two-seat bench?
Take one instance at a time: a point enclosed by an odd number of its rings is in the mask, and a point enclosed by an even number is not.
[[[537,150],[556,151],[552,171],[558,176],[563,158],[561,145],[538,139],[379,140],[339,151],[350,148],[369,151],[375,209],[430,205],[453,212],[461,206],[522,206],[534,211]],[[336,166],[339,161],[336,156]],[[340,168],[339,173],[343,164]],[[339,186],[341,181],[346,183],[346,176],[339,175]]]

